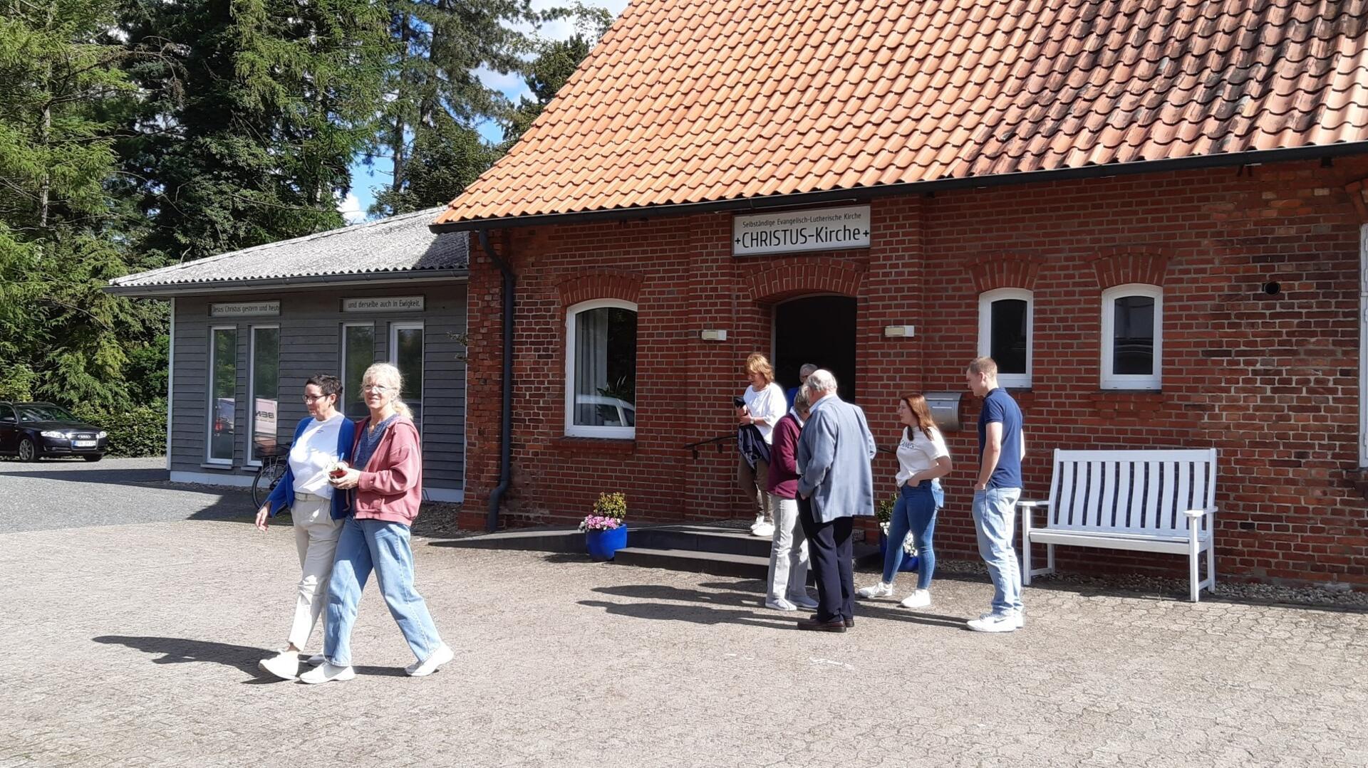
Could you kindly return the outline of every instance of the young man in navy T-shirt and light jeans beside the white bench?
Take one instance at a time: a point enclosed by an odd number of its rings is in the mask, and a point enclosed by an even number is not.
[[[1022,411],[997,385],[993,358],[974,358],[966,372],[969,389],[984,398],[978,414],[978,478],[974,480],[974,530],[978,553],[993,579],[993,609],[969,622],[974,631],[1012,631],[1022,620],[1022,570],[1012,548],[1016,500],[1022,495]]]

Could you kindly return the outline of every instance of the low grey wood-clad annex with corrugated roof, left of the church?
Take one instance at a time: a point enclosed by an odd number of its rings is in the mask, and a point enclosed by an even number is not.
[[[442,209],[356,224],[119,277],[107,288],[171,302],[167,469],[178,482],[249,485],[263,450],[308,415],[304,383],[393,362],[423,436],[425,496],[461,502],[465,477],[468,236],[435,235]]]

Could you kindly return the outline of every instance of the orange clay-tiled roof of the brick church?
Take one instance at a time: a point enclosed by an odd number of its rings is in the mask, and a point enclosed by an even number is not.
[[[1365,15],[1368,0],[636,0],[435,225],[1363,142]]]

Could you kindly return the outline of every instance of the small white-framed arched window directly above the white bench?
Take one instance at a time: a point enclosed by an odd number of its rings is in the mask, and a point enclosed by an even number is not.
[[[1129,284],[1103,291],[1103,389],[1159,389],[1163,384],[1164,291]]]

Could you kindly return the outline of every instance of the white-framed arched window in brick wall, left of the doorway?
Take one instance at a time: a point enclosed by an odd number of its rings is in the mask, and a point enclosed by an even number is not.
[[[617,299],[565,312],[565,435],[636,437],[636,305]]]

